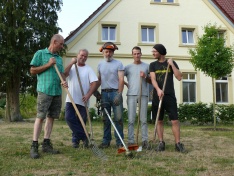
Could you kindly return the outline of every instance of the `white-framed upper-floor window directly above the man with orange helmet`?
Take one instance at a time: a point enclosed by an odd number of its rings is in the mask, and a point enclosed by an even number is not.
[[[102,26],[102,41],[116,41],[116,26]]]

